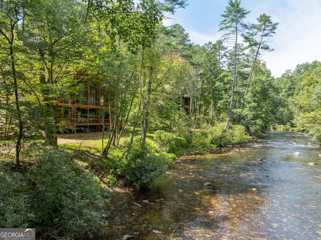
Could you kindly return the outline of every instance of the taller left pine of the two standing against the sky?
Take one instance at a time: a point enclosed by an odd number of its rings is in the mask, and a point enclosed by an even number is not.
[[[228,125],[232,117],[232,109],[234,104],[234,94],[237,84],[237,45],[239,43],[238,38],[244,33],[246,28],[243,20],[250,13],[250,11],[241,8],[241,1],[230,0],[224,14],[221,15],[223,20],[220,23],[219,31],[227,31],[224,35],[224,41],[233,44],[234,49],[234,60],[233,60],[233,82],[231,91],[230,106],[227,111],[227,120],[225,124],[225,130],[227,130]]]

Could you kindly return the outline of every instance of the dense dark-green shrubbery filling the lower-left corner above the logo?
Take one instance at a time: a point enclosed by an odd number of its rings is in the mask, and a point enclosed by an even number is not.
[[[94,238],[108,227],[109,195],[72,155],[55,148],[36,148],[36,164],[25,173],[0,166],[0,225],[42,227],[71,239]],[[30,154],[30,153],[29,153]],[[31,155],[30,155],[31,156]]]

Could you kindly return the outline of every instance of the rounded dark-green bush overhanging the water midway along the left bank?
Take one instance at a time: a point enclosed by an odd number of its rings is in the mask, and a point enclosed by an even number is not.
[[[135,139],[126,160],[122,162],[121,173],[125,182],[137,190],[148,189],[152,182],[166,171],[167,160],[162,154],[156,154],[147,143],[142,145]]]

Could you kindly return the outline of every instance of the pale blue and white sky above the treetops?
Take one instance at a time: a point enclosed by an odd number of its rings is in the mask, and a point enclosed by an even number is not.
[[[215,43],[228,0],[188,0],[185,9],[167,14],[165,26],[180,24],[194,44]],[[279,23],[273,37],[266,39],[273,52],[264,53],[262,60],[272,76],[280,77],[298,64],[321,61],[321,0],[241,0],[241,7],[251,11],[244,22],[256,23],[263,13]]]

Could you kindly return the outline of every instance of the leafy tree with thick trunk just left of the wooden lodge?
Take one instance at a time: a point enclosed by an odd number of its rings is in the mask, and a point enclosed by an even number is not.
[[[84,18],[82,4],[61,0],[33,3],[26,18],[29,36],[25,45],[38,57],[35,71],[39,72],[40,89],[37,95],[43,99],[41,121],[45,120],[39,126],[44,127],[51,145],[57,145],[58,98],[66,91],[65,86],[76,85],[74,74],[79,60],[83,59],[80,46],[87,44],[88,25],[82,24]],[[66,74],[67,69],[72,73]]]

